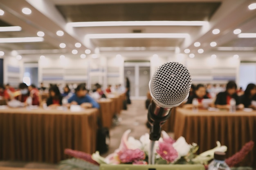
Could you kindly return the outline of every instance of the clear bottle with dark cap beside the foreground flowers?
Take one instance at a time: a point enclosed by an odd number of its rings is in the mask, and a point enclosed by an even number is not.
[[[225,152],[214,152],[214,159],[209,164],[208,170],[230,170],[229,166],[225,162]]]

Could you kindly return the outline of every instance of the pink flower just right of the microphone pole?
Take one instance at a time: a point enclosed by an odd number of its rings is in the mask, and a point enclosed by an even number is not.
[[[173,162],[178,157],[178,152],[173,148],[173,145],[165,142],[159,142],[159,149],[157,149],[157,153],[162,157],[162,159],[168,162]]]

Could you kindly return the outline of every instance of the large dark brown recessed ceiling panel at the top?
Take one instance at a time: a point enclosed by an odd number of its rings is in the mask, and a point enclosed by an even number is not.
[[[56,5],[68,22],[209,20],[221,2]]]

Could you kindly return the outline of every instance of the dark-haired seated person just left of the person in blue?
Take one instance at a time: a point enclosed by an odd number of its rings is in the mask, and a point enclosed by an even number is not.
[[[62,96],[58,86],[54,85],[49,88],[49,98],[47,99],[46,104],[49,107],[62,105]]]

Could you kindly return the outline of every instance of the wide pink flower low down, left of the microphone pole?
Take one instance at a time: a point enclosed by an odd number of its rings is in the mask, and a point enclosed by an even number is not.
[[[122,163],[134,162],[145,159],[145,153],[140,149],[120,150],[117,155]]]

